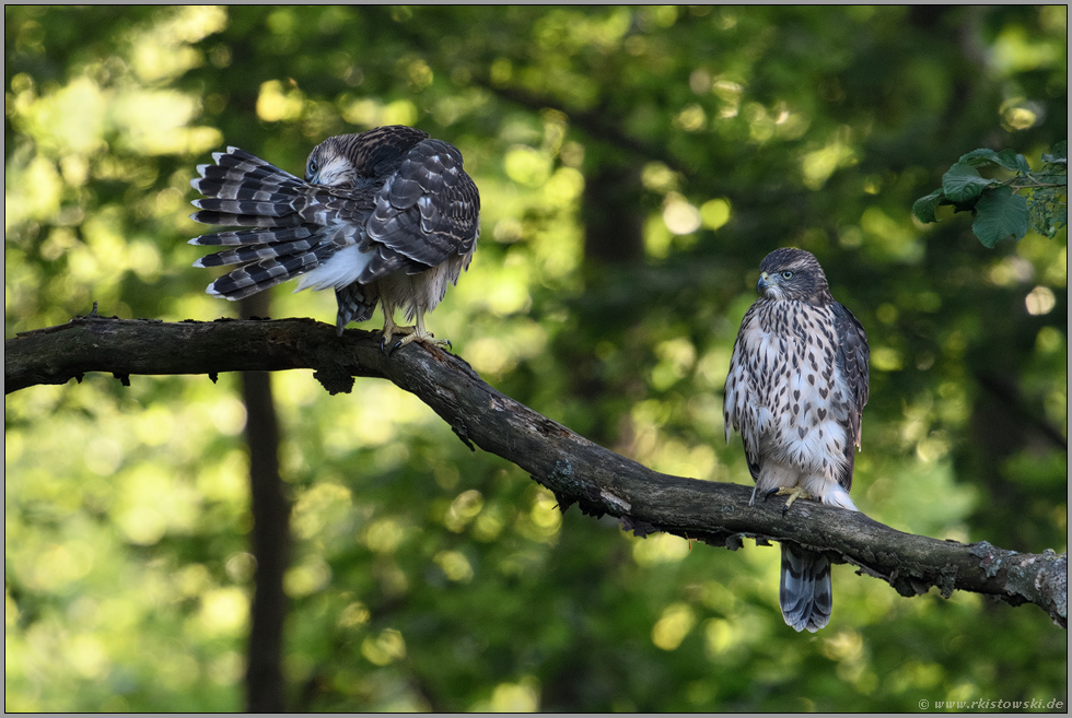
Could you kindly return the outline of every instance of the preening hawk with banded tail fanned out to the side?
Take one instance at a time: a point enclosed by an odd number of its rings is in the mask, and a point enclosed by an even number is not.
[[[190,180],[206,197],[190,219],[250,228],[190,239],[228,247],[195,267],[237,264],[209,294],[235,301],[301,276],[295,292],[335,289],[340,336],[382,303],[382,348],[395,334],[392,349],[431,340],[424,314],[457,284],[479,232],[480,193],[457,148],[403,126],[340,134],[316,145],[305,179],[237,148],[212,157]],[[396,326],[395,309],[416,326]]]

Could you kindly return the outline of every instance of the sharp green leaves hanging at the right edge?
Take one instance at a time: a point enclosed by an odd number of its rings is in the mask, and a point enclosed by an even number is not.
[[[942,176],[942,187],[916,200],[912,213],[923,223],[937,222],[935,210],[952,204],[956,212],[971,212],[971,231],[983,246],[1024,238],[1028,229],[1054,236],[1068,226],[1068,142],[1042,155],[1042,167],[1033,173],[1024,155],[1013,150],[972,150]],[[986,178],[977,167],[1014,172],[1006,179]],[[1019,190],[1027,190],[1025,197]]]

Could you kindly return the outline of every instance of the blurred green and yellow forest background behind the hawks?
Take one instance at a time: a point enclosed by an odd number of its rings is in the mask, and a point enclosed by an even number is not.
[[[482,197],[429,328],[490,384],[653,469],[749,484],[722,388],[759,260],[813,251],[867,329],[853,496],[896,528],[1067,551],[1067,233],[983,248],[913,200],[976,148],[1067,138],[1067,8],[4,9],[4,336],[86,314],[234,316],[186,240],[195,166],[301,174],[413,125]],[[330,293],[272,317],[334,322]],[[377,329],[381,318],[365,325]],[[301,710],[869,710],[1053,699],[1032,605],[835,568],[796,634],[777,548],[640,540],[384,381],[272,377]],[[237,377],[7,398],[8,710],[244,705]],[[283,530],[280,527],[280,530]]]

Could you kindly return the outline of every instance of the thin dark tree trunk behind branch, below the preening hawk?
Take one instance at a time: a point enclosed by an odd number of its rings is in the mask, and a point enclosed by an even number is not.
[[[267,295],[243,301],[243,316],[267,314]],[[249,482],[253,496],[253,555],[257,562],[249,615],[249,652],[246,663],[246,710],[282,713],[281,669],[287,596],[283,573],[290,553],[290,506],[279,478],[279,424],[268,372],[242,374],[246,405],[246,442],[249,445]]]

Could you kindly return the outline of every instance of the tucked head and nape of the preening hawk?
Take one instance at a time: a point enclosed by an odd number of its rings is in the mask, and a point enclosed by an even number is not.
[[[403,155],[428,137],[428,132],[404,125],[329,137],[310,153],[305,181],[343,189],[358,187],[397,169]]]

